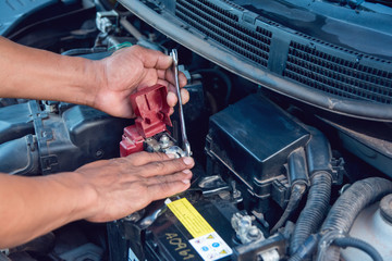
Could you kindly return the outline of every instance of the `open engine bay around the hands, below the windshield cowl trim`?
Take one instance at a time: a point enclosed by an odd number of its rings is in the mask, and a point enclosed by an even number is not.
[[[373,260],[377,252],[392,259],[391,247],[381,244],[391,239],[381,232],[392,227],[390,122],[336,114],[274,92],[119,3],[42,2],[4,36],[93,60],[132,45],[179,50],[196,166],[183,194],[108,224],[75,222],[0,252],[0,260],[371,260],[353,246]],[[171,122],[167,130],[181,146],[177,113]],[[77,104],[2,98],[0,172],[48,175],[120,157],[123,129],[134,123]],[[144,148],[155,151],[162,135]],[[370,221],[373,226],[365,227]],[[364,236],[367,229],[377,244]]]

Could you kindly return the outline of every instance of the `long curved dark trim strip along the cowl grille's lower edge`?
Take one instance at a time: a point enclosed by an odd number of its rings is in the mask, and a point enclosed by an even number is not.
[[[284,96],[306,102],[308,104],[340,113],[343,115],[372,121],[392,122],[392,107],[375,102],[351,100],[309,89],[308,87],[284,79],[282,76],[255,66],[255,63],[245,61],[238,55],[228,53],[219,45],[200,37],[198,34],[181,26],[180,20],[164,11],[157,13],[137,0],[119,0],[126,9],[145,21],[162,34],[174,39],[199,55],[222,67],[243,76],[266,88]]]

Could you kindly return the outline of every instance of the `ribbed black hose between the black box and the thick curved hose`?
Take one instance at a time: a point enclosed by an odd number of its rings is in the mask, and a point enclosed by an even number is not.
[[[306,238],[320,227],[329,207],[331,186],[332,177],[328,172],[319,171],[310,177],[310,189],[306,206],[299,214],[291,238],[291,254],[294,254]]]

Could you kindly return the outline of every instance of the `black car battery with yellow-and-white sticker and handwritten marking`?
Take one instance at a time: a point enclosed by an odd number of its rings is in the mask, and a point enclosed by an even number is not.
[[[110,260],[231,260],[236,243],[230,220],[237,211],[229,200],[195,190],[156,201],[143,217],[108,225]]]

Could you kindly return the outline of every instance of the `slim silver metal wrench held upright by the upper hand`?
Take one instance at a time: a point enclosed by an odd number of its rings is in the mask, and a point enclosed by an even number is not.
[[[172,49],[170,55],[173,58],[173,72],[174,72],[174,80],[175,80],[175,89],[179,98],[179,113],[180,113],[180,125],[181,125],[181,136],[182,136],[182,146],[185,154],[187,157],[192,156],[191,144],[186,137],[186,128],[185,128],[185,120],[184,120],[184,111],[182,108],[182,99],[181,99],[181,90],[180,90],[180,80],[179,80],[179,54],[176,49]]]

